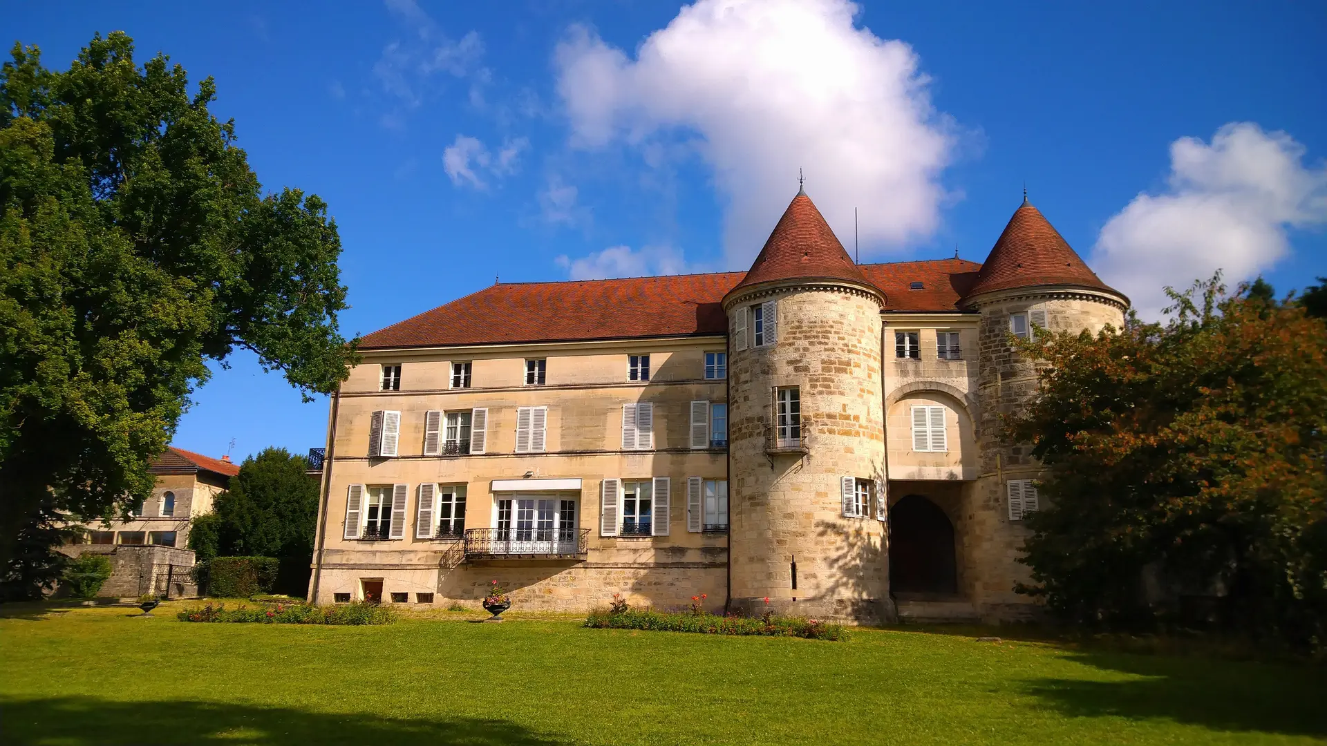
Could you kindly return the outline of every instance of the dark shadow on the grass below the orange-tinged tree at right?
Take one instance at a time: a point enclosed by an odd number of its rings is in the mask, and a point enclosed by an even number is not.
[[[1036,678],[1026,690],[1068,717],[1170,719],[1220,731],[1327,735],[1327,670],[1213,658],[1082,652],[1067,660],[1147,678]]]

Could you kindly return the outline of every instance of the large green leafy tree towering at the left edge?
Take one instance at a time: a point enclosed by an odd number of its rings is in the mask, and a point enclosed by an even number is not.
[[[308,397],[354,361],[336,223],[264,194],[234,121],[158,54],[93,37],[68,70],[0,70],[0,560],[42,499],[134,503],[206,361],[236,348]]]

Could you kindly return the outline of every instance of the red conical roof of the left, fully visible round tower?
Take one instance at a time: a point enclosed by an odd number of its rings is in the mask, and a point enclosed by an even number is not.
[[[783,211],[746,277],[729,295],[760,283],[795,279],[849,280],[874,288],[802,190]]]

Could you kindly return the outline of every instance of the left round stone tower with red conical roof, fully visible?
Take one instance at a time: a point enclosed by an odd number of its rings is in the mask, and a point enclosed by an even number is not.
[[[881,292],[799,191],[729,316],[731,608],[890,619]],[[877,494],[877,491],[880,494]],[[878,503],[877,503],[878,500]]]

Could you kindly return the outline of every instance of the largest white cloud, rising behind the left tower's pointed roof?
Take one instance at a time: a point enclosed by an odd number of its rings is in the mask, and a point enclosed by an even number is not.
[[[796,191],[864,252],[930,235],[954,138],[908,44],[855,28],[847,0],[699,0],[634,60],[573,27],[557,45],[572,142],[695,141],[726,206],[727,264],[744,268]],[[697,139],[698,135],[698,139]]]

